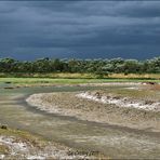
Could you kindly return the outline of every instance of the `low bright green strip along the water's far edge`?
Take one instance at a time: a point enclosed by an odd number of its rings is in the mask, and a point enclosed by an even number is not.
[[[5,89],[18,86],[48,86],[48,85],[104,85],[110,83],[138,84],[150,82],[150,80],[139,79],[52,79],[52,78],[0,78],[0,88],[5,84]],[[151,80],[152,83],[160,83],[160,80]]]

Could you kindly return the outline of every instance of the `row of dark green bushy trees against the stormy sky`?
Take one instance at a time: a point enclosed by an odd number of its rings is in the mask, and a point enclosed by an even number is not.
[[[80,72],[80,74],[159,74],[160,57],[137,59],[52,59],[34,62],[0,58],[0,72]]]

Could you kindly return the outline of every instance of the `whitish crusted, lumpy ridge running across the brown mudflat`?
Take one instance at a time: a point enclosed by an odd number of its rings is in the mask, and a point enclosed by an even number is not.
[[[101,92],[83,92],[76,96],[103,104],[116,105],[118,107],[136,108],[142,110],[160,111],[160,102],[148,99],[133,99],[130,97],[115,96]]]

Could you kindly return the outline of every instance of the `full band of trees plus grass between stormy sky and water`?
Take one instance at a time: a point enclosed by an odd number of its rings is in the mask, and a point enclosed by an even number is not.
[[[0,59],[0,82],[18,84],[79,84],[160,81],[160,57],[135,59]]]

